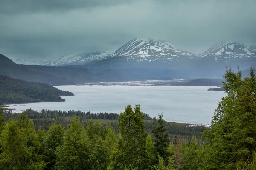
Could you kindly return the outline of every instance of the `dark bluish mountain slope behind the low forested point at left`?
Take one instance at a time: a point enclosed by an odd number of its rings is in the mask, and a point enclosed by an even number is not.
[[[75,85],[94,81],[95,78],[84,68],[20,65],[3,55],[0,55],[0,75],[49,85]]]

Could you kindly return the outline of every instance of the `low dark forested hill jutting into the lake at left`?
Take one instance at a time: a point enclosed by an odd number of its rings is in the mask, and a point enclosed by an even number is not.
[[[73,95],[44,83],[26,82],[0,75],[0,104],[61,102],[65,99],[60,96]]]

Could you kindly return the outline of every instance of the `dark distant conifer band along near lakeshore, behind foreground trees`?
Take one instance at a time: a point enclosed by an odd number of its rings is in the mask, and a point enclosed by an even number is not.
[[[58,110],[46,110],[42,109],[41,111],[35,111],[32,109],[27,109],[24,111],[29,119],[33,119],[33,123],[35,125],[35,129],[38,130],[41,127],[44,130],[48,130],[49,127],[57,122],[62,125],[65,129],[70,125],[73,121],[73,117],[77,116],[81,125],[85,128],[88,125],[88,122],[92,120],[101,120],[101,124],[103,127],[111,126],[115,133],[118,133],[118,123],[117,120],[119,118],[119,114],[116,113],[90,113],[90,112],[81,112],[81,111],[58,111]],[[12,113],[12,110],[6,111],[6,122],[9,119],[15,119],[19,116],[20,113]],[[145,122],[145,130],[151,136],[151,131],[156,124],[156,116],[153,118],[146,113],[144,115]],[[102,120],[110,120],[110,121],[102,121]],[[113,120],[113,121],[111,121]],[[114,121],[115,120],[115,121]],[[169,133],[169,137],[171,141],[174,141],[175,136],[181,135],[181,138],[185,140],[186,144],[189,143],[189,140],[194,136],[196,139],[200,139],[200,134],[207,129],[204,125],[187,125],[182,123],[175,122],[166,122],[164,121],[167,132]]]

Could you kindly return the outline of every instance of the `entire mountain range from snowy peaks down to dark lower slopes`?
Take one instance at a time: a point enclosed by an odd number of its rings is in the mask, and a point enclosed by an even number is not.
[[[29,82],[72,85],[86,82],[222,77],[225,66],[256,66],[255,46],[223,41],[202,54],[183,51],[165,40],[134,38],[113,53],[62,54],[44,62],[15,64],[0,55],[0,74]],[[17,62],[17,61],[16,61]],[[6,64],[5,64],[6,63]],[[61,67],[58,67],[61,66]]]

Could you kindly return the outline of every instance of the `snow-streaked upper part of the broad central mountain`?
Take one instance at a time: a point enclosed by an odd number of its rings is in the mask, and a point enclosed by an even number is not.
[[[196,58],[192,53],[176,48],[165,40],[134,38],[116,50],[109,57],[123,57],[128,60],[170,63]]]

